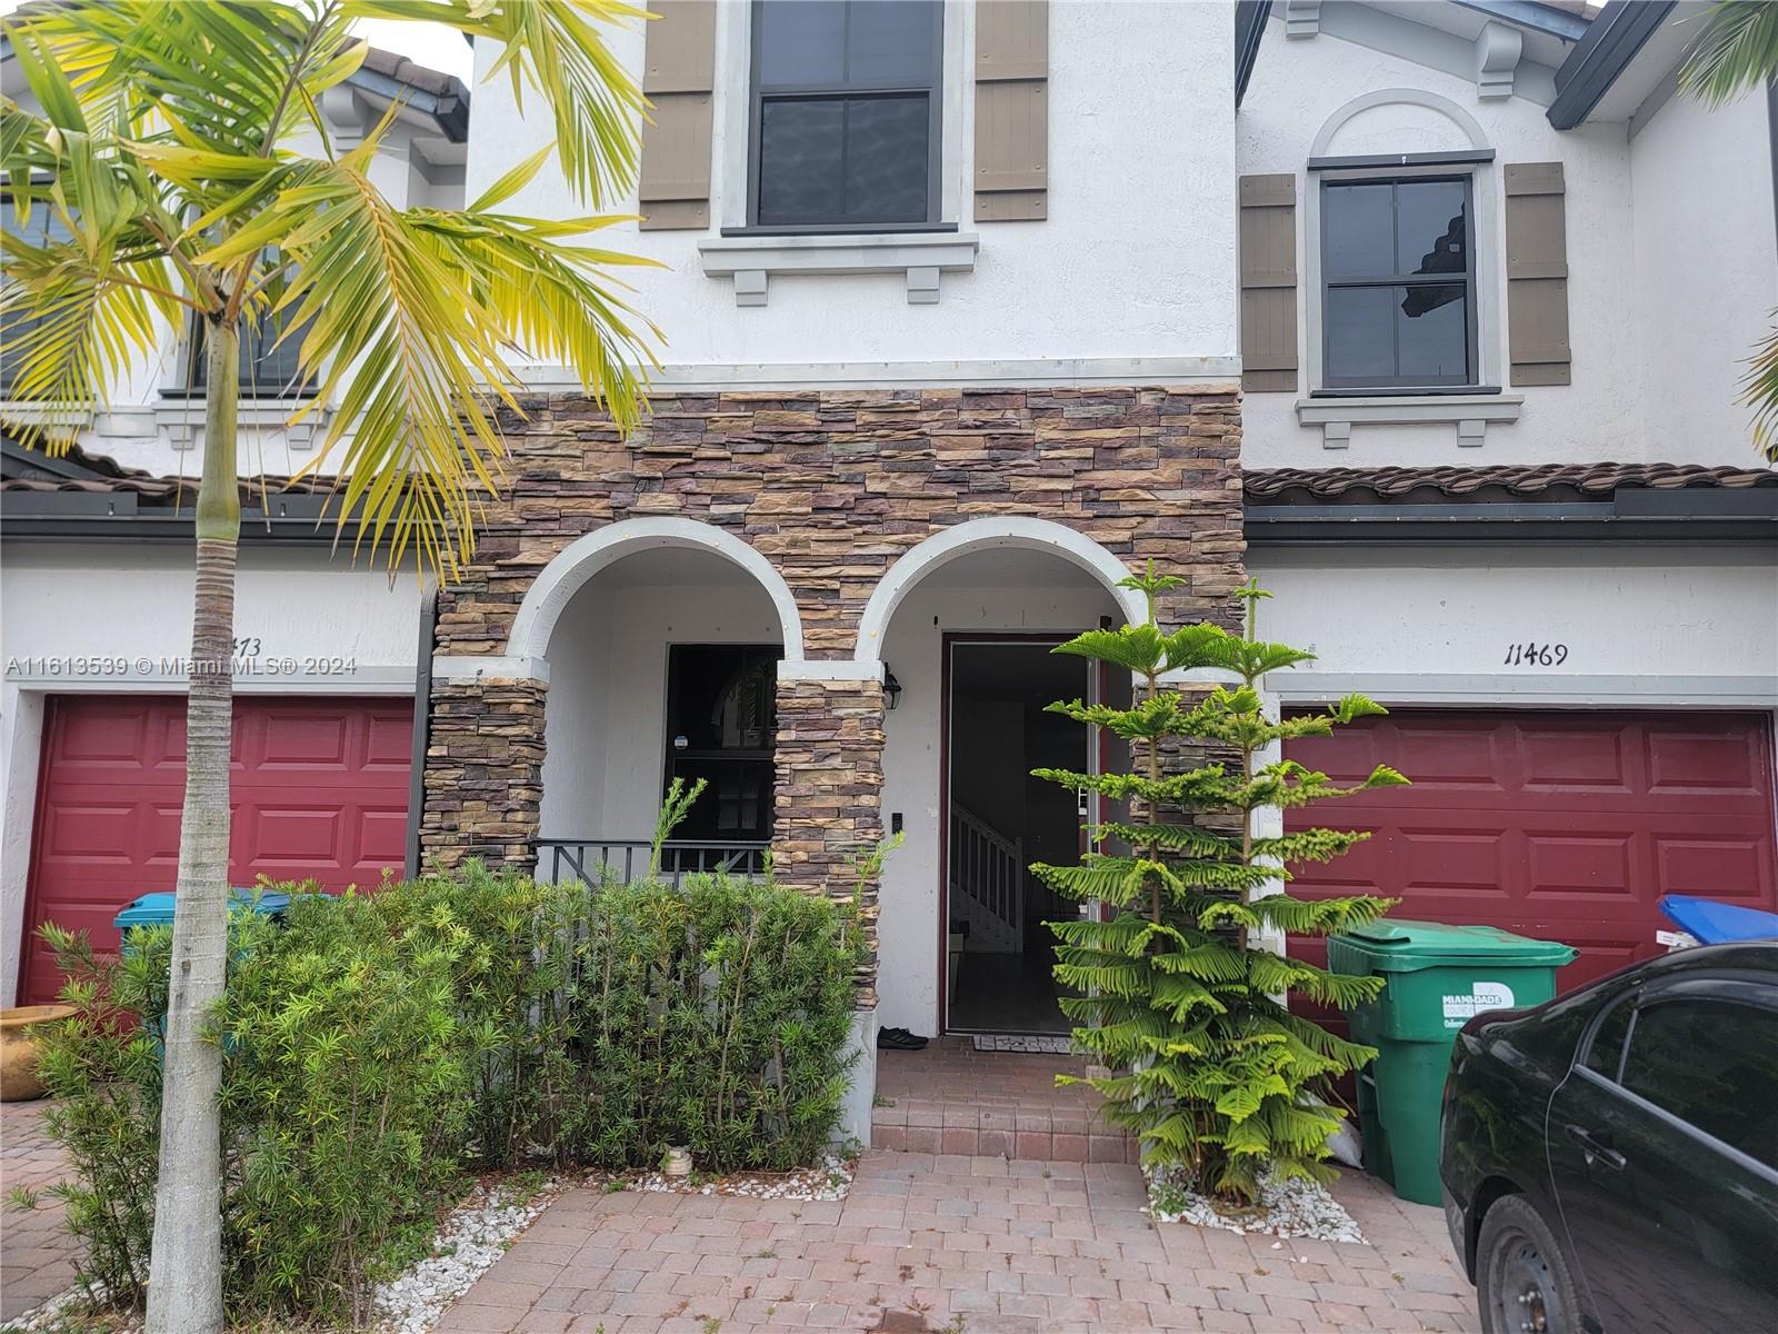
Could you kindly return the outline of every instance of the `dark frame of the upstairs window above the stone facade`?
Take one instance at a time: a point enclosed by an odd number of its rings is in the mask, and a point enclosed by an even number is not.
[[[907,0],[932,14],[932,62],[926,82],[919,84],[773,84],[766,87],[761,78],[761,36],[765,34],[763,12],[766,4],[786,4],[791,0],[752,0],[749,5],[747,34],[747,228],[750,235],[770,237],[834,237],[834,235],[871,235],[885,231],[941,231],[942,224],[942,162],[944,162],[944,0]],[[846,4],[846,23],[852,21],[852,5]],[[845,43],[843,43],[845,44]],[[759,187],[761,187],[761,144],[759,123],[765,103],[770,100],[816,101],[864,98],[894,98],[909,92],[926,94],[926,217],[919,222],[859,222],[855,219],[829,219],[816,222],[761,222]],[[734,235],[734,229],[724,229]]]

